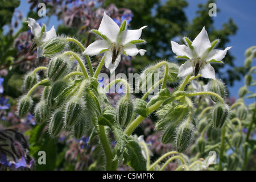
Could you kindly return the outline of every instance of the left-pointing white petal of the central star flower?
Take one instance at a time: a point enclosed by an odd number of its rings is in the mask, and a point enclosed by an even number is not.
[[[90,44],[84,51],[84,55],[94,56],[98,55],[103,49],[108,49],[109,43],[106,40],[96,40]]]

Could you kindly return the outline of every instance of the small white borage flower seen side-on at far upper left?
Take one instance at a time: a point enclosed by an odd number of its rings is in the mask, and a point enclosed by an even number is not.
[[[40,48],[43,43],[47,42],[47,40],[50,40],[52,38],[56,38],[56,31],[54,26],[52,26],[51,30],[46,31],[46,26],[43,24],[41,27],[39,23],[36,22],[33,18],[28,18],[28,27],[30,27],[32,34],[34,35],[34,43],[31,47],[31,50],[34,49],[36,46],[38,46],[38,56],[42,57],[43,51]]]

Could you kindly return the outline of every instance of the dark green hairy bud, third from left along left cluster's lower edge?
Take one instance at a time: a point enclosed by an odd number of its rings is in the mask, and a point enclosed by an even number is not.
[[[57,110],[52,114],[49,122],[49,135],[51,137],[57,137],[64,127],[63,111]]]

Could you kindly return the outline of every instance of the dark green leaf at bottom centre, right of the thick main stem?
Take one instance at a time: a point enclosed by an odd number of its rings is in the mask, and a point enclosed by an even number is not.
[[[128,154],[123,155],[125,163],[127,162],[135,171],[146,171],[146,159],[142,155],[139,143],[134,138],[129,137],[126,146],[128,148]]]

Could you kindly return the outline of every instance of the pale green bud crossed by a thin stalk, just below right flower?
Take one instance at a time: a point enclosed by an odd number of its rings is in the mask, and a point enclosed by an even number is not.
[[[226,89],[225,89],[224,83],[221,80],[211,80],[209,85],[210,85],[210,91],[211,92],[217,93],[222,98],[225,98]],[[214,102],[218,101],[218,98],[216,98],[214,96],[210,96],[210,98],[212,98],[212,100]]]

